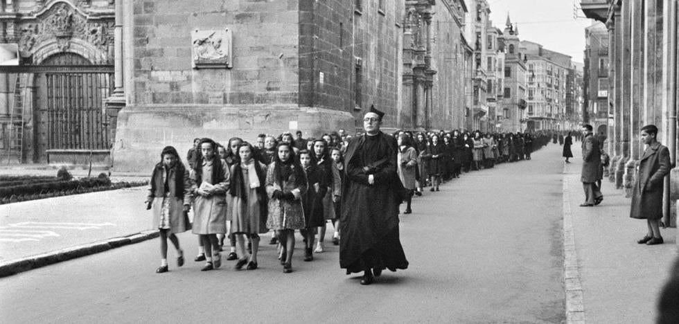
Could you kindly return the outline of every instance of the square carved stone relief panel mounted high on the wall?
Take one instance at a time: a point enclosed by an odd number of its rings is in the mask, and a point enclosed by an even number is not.
[[[233,67],[231,30],[193,30],[191,33],[193,69]]]

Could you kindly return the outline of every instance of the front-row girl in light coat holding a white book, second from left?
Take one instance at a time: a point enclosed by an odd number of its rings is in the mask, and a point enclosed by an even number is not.
[[[203,138],[199,147],[202,159],[191,172],[192,191],[196,194],[193,234],[200,235],[205,248],[206,264],[201,271],[208,271],[222,264],[217,234],[227,233],[229,168],[216,156],[217,144],[210,138]]]

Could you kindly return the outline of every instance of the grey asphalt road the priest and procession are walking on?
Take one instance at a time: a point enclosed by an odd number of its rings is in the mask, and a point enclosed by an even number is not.
[[[464,174],[414,199],[400,234],[409,269],[371,286],[339,268],[337,247],[285,274],[273,246],[260,269],[187,260],[157,274],[158,240],[0,279],[2,323],[561,323],[561,147]],[[196,239],[179,236],[187,259]],[[331,235],[328,235],[329,239]]]

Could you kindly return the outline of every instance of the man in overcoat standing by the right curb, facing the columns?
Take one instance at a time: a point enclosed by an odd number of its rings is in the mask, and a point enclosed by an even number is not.
[[[597,186],[597,181],[601,179],[601,150],[599,141],[592,136],[592,125],[583,125],[582,132],[584,136],[582,141],[583,165],[580,181],[585,190],[585,202],[580,206],[590,207],[601,204],[603,201],[603,194]]]

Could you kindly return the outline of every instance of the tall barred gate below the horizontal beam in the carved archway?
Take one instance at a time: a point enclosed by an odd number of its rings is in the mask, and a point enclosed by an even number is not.
[[[113,73],[46,73],[48,150],[108,150]]]

